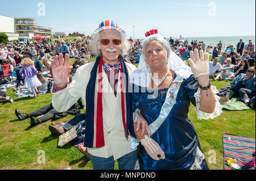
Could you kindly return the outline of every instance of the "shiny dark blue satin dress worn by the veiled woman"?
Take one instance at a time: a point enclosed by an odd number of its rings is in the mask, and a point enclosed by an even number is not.
[[[154,169],[190,169],[195,161],[197,146],[200,148],[195,128],[188,119],[189,105],[192,102],[196,106],[195,93],[199,87],[195,77],[191,75],[181,83],[176,96],[176,103],[159,129],[151,135],[158,142],[165,154],[165,159],[155,161],[139,143],[138,159],[142,170]],[[145,90],[145,89],[143,89]],[[158,90],[155,98],[149,98],[152,91],[142,91],[142,87],[133,85],[133,111],[137,108],[141,115],[148,121],[148,125],[154,122],[166,99],[168,89]],[[208,169],[204,159],[204,168]]]

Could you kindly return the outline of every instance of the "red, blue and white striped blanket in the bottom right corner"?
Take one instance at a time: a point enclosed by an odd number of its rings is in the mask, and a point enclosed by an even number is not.
[[[231,170],[225,161],[226,157],[236,159],[240,170],[255,170],[251,159],[255,157],[255,138],[225,133],[223,135],[223,148],[224,170]]]

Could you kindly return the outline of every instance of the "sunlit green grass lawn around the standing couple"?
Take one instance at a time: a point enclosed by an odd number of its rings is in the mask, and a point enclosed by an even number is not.
[[[73,61],[75,59],[71,58],[71,65]],[[212,81],[212,85],[217,89],[227,86],[228,83]],[[6,93],[9,96],[16,94],[10,89]],[[22,112],[38,110],[51,103],[51,94],[38,95],[36,99],[16,96],[14,98],[13,104],[0,103],[0,169],[92,169],[92,163],[71,144],[63,148],[57,147],[58,137],[52,136],[48,130],[50,120],[30,127],[30,119],[19,121],[16,118],[15,109]],[[195,106],[191,104],[189,108],[188,117],[196,128],[209,169],[223,169],[222,135],[224,133],[255,137],[255,110],[222,111],[222,114],[213,120],[199,120]],[[81,112],[83,113],[84,110]],[[56,120],[55,123],[61,123],[72,117],[68,115]],[[40,150],[45,153],[45,163],[38,163],[42,155]],[[216,153],[216,163],[208,161],[211,151]],[[117,163],[115,169],[118,169]]]

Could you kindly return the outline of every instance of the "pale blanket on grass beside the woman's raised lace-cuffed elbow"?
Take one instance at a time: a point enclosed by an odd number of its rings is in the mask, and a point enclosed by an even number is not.
[[[231,99],[229,99],[229,102],[220,103],[220,105],[222,108],[225,108],[227,110],[233,110],[233,111],[254,109],[254,108],[247,106],[245,103],[241,102],[238,99],[239,98],[231,98]]]

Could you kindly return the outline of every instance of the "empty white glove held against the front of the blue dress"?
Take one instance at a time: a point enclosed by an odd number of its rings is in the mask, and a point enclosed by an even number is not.
[[[166,158],[158,143],[155,140],[149,138],[147,135],[145,135],[145,138],[141,140],[141,144],[144,146],[148,155],[150,155],[152,159],[159,161],[159,159]]]

